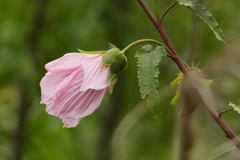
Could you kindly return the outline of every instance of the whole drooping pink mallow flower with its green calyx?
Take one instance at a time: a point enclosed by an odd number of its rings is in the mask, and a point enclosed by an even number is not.
[[[110,47],[108,51],[67,53],[45,65],[40,103],[46,104],[48,114],[62,119],[63,127],[75,127],[93,113],[127,67],[124,52]]]

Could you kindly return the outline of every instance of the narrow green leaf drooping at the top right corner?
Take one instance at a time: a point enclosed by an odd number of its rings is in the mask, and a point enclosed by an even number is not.
[[[196,2],[195,0],[178,0],[178,2],[181,5],[193,9],[196,15],[210,27],[210,29],[215,34],[216,38],[219,41],[226,43],[222,29],[219,27],[216,19],[206,8],[204,8],[200,3]]]

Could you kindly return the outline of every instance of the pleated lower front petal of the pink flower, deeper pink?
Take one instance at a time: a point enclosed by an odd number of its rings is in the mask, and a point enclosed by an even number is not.
[[[57,73],[53,72],[51,75]],[[65,127],[74,127],[81,118],[95,111],[108,90],[104,88],[80,91],[82,79],[82,68],[79,68],[58,85],[48,102],[46,111],[60,117]]]

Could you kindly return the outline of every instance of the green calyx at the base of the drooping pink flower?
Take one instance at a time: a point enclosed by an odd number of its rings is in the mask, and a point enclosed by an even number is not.
[[[118,74],[127,68],[127,57],[116,46],[110,44],[110,49],[103,54],[103,65],[101,70],[105,66],[110,66],[110,75],[108,80],[112,81],[118,76]]]

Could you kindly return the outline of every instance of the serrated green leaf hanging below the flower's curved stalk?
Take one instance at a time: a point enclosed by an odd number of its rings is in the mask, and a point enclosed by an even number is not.
[[[135,57],[138,58],[138,79],[141,97],[144,99],[146,95],[157,92],[159,86],[159,62],[167,52],[164,47],[157,46],[153,48],[151,45],[145,45],[140,48]]]

